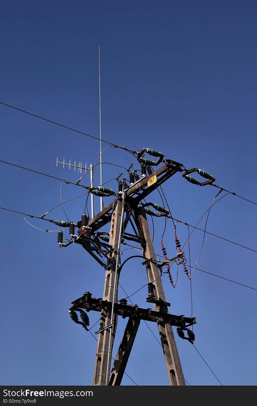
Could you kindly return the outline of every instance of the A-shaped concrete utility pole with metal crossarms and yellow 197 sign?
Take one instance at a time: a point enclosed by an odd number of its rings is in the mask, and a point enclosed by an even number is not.
[[[144,153],[158,156],[158,161],[153,162],[142,158]],[[150,149],[140,151],[137,159],[141,164],[142,177],[137,176],[135,172],[134,176],[132,176],[130,172],[130,186],[126,185],[124,181],[119,181],[119,193],[108,189],[108,193],[116,194],[117,198],[93,217],[87,226],[84,225],[84,231],[80,232],[81,228],[78,235],[73,235],[74,242],[82,245],[105,268],[106,275],[103,298],[92,298],[92,294],[86,292],[82,297],[72,302],[73,306],[69,308],[70,314],[72,320],[83,324],[83,318],[82,322],[78,322],[76,311],[80,311],[80,315],[82,314],[81,317],[84,317],[84,320],[87,320],[84,310],[87,312],[91,310],[101,312],[99,331],[96,332],[98,333],[98,341],[93,385],[121,384],[140,320],[157,323],[170,384],[173,386],[185,385],[172,326],[176,326],[180,330],[189,330],[188,326],[195,323],[195,318],[173,315],[168,312],[170,303],[166,302],[160,277],[160,267],[166,266],[167,261],[164,261],[161,265],[156,261],[146,217],[146,213],[157,216],[147,207],[148,205],[155,207],[161,213],[159,216],[167,215],[168,211],[157,204],[141,203],[164,181],[175,175],[175,173],[181,172],[182,164],[171,160],[163,160],[163,155],[160,152]],[[143,168],[144,163],[142,161],[146,162],[145,164],[148,166],[149,176],[146,175],[145,171],[147,166]],[[149,164],[149,161],[151,161],[151,164]],[[152,173],[149,165],[158,165],[160,162],[164,162],[164,166]],[[104,188],[98,188],[98,190],[103,192]],[[105,188],[106,190],[107,188]],[[97,194],[99,195],[99,192]],[[125,218],[123,219],[124,214]],[[85,222],[85,220],[83,221]],[[106,231],[99,231],[108,223],[110,223],[110,238],[106,235],[108,234]],[[133,234],[126,232],[126,227],[129,224],[132,227]],[[78,222],[77,227],[80,226]],[[100,241],[101,239],[105,242]],[[139,308],[137,305],[127,305],[126,299],[117,302],[119,274],[123,266],[120,264],[120,244],[121,242],[125,244],[126,240],[137,242],[142,247],[143,258],[145,259],[143,264],[146,266],[149,281],[147,302],[153,304],[154,310]],[[61,244],[61,246],[66,245]],[[107,263],[103,261],[104,257]],[[177,256],[173,259],[177,257],[181,258],[181,253],[177,253]],[[110,372],[112,346],[119,315],[123,318],[128,317],[128,322]]]

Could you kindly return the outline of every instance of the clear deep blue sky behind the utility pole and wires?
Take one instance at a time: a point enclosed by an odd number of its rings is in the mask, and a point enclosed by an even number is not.
[[[104,139],[160,149],[166,158],[203,168],[218,185],[257,201],[256,11],[254,1],[3,1],[0,99],[98,136],[100,45]],[[99,156],[99,143],[91,138],[5,106],[0,117],[1,160],[77,181],[78,173],[56,168],[56,157],[89,164]],[[104,162],[129,166],[128,160],[129,154],[113,148],[103,155]],[[2,163],[0,170],[1,206],[41,216],[60,203],[60,181]],[[117,175],[114,166],[104,166],[104,181]],[[115,182],[109,185],[117,189]],[[181,174],[163,189],[173,216],[189,224],[196,224],[217,192]],[[80,193],[63,185],[63,199]],[[161,203],[157,193],[151,201]],[[65,205],[71,220],[80,219],[84,202],[80,197]],[[256,210],[238,197],[224,197],[210,212],[207,231],[256,249]],[[51,218],[65,220],[61,207]],[[90,385],[96,341],[71,322],[67,309],[85,291],[102,297],[104,270],[76,244],[59,249],[56,233],[30,227],[22,215],[1,210],[0,221],[1,383]],[[54,229],[40,220],[32,223]],[[161,253],[164,220],[154,224],[155,251]],[[187,234],[179,224],[181,242]],[[197,230],[190,238],[193,265],[202,238]],[[173,257],[172,222],[164,244]],[[185,253],[188,258],[188,246]],[[122,258],[133,254],[124,251]],[[257,288],[255,263],[255,252],[206,235],[197,267]],[[172,268],[173,277],[176,271]],[[183,270],[175,289],[166,276],[162,280],[171,313],[190,316],[190,283]],[[128,294],[147,283],[140,259],[124,266],[120,282]],[[198,270],[192,276],[195,346],[224,385],[256,384],[256,294]],[[132,300],[147,307],[146,296],[144,288]],[[92,326],[99,313],[89,317]],[[119,320],[114,355],[124,326]],[[157,326],[150,327],[158,337]],[[188,383],[218,384],[191,344],[175,335]],[[169,384],[162,348],[144,323],[126,371],[138,385]],[[125,376],[123,384],[132,382]]]

